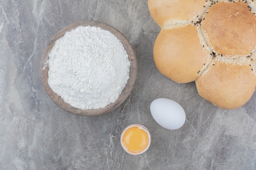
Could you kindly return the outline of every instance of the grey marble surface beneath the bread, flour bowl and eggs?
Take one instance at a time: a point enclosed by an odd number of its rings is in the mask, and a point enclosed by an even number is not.
[[[45,46],[63,27],[95,20],[115,27],[137,56],[137,80],[118,108],[82,117],[59,108],[40,78]],[[177,84],[155,67],[160,29],[146,0],[0,1],[1,170],[255,170],[256,93],[243,107],[222,110],[202,99],[195,83]],[[178,130],[159,126],[150,103],[160,97],[184,108]],[[150,148],[129,155],[121,131],[143,124]]]

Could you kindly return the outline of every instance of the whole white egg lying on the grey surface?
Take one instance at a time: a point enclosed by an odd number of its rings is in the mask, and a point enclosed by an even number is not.
[[[171,99],[155,99],[150,104],[150,112],[160,126],[170,130],[182,127],[186,120],[182,106]]]

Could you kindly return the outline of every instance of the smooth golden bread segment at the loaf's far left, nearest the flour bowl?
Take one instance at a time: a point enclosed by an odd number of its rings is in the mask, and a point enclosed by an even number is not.
[[[198,71],[206,63],[207,56],[197,36],[196,27],[193,25],[160,31],[155,40],[153,56],[163,75],[178,83],[197,79],[200,75]]]

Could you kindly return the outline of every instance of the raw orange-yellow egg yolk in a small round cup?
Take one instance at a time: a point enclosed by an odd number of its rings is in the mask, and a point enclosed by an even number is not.
[[[130,152],[141,152],[148,145],[148,134],[139,127],[131,127],[124,132],[122,141]]]

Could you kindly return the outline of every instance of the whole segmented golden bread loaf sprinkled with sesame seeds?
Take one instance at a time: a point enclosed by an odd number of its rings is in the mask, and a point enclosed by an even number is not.
[[[157,69],[177,83],[195,81],[219,108],[243,106],[256,87],[256,2],[148,0],[160,26]]]

